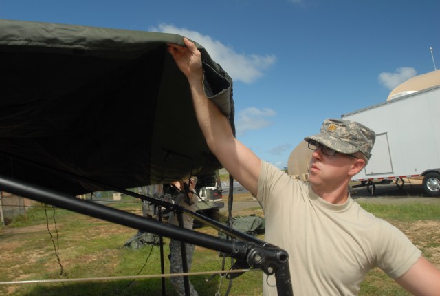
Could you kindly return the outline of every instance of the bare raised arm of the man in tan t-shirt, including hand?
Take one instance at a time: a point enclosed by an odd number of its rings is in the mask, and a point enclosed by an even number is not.
[[[208,147],[221,165],[243,187],[256,195],[261,170],[261,160],[248,147],[236,140],[228,118],[208,100],[203,89],[203,67],[197,47],[184,39],[186,46],[168,44],[168,52],[188,78],[197,121]]]

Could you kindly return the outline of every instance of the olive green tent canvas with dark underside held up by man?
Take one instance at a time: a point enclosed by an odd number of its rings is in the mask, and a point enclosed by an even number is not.
[[[0,173],[80,194],[219,169],[167,43],[183,37],[0,20]],[[232,79],[197,46],[234,128]]]

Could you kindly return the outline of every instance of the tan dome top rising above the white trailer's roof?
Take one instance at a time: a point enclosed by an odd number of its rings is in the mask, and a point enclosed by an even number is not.
[[[413,92],[418,92],[419,90],[427,89],[436,85],[440,85],[440,70],[409,78],[407,81],[393,89],[388,95],[386,101],[406,96],[407,94],[412,94]]]

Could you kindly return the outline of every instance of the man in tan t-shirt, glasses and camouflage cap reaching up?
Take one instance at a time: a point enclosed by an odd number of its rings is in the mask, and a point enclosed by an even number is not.
[[[319,134],[305,138],[314,150],[309,186],[288,180],[287,174],[236,140],[228,118],[212,102],[216,94],[210,98],[205,94],[203,80],[209,83],[209,67],[203,67],[194,43],[185,38],[184,44],[169,44],[168,52],[188,78],[201,131],[223,167],[261,202],[265,239],[289,253],[294,295],[355,295],[373,266],[384,269],[410,293],[440,295],[440,271],[403,233],[349,196],[348,184],[366,165],[374,144],[371,129],[326,120]],[[220,89],[219,94],[227,91]],[[264,282],[264,295],[276,292],[269,287],[270,279]]]

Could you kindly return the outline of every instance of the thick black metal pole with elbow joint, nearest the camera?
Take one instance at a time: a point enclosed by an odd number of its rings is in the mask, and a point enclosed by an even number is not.
[[[267,274],[274,274],[279,296],[293,295],[287,263],[289,256],[287,252],[275,246],[270,246],[269,244],[261,246],[254,242],[241,242],[239,240],[222,240],[219,237],[213,237],[189,229],[181,229],[177,226],[146,219],[140,215],[106,207],[89,200],[80,200],[72,195],[4,176],[0,176],[0,189],[94,218],[128,226],[133,229],[148,231],[157,235],[164,235],[174,240],[196,244],[197,246],[225,253],[243,264],[247,262],[248,266],[261,268]],[[190,213],[192,212],[190,211]]]

